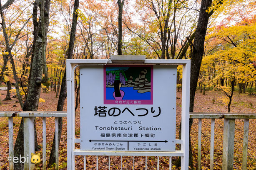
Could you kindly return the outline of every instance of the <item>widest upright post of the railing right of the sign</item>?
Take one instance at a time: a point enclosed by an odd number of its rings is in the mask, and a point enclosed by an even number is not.
[[[224,119],[222,170],[233,170],[235,119]]]

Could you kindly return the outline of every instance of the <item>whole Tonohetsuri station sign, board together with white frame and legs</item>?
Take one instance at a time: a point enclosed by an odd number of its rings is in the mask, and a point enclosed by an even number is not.
[[[181,140],[176,139],[177,65],[183,65]],[[78,66],[80,139],[74,130]],[[75,155],[181,156],[181,169],[188,169],[189,88],[190,60],[118,55],[67,60],[68,169],[75,168]]]

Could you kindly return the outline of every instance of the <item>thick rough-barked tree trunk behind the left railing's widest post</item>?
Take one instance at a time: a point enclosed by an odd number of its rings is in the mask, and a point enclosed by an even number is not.
[[[50,10],[50,0],[45,0],[45,6],[44,6],[44,14],[41,14],[41,17],[39,18],[39,22],[37,22],[37,7],[40,7],[39,4],[37,4],[37,1],[34,2],[33,7],[33,24],[34,24],[34,40],[33,40],[33,53],[32,53],[32,63],[31,63],[31,69],[30,69],[30,78],[29,78],[29,87],[28,87],[28,97],[24,103],[23,111],[35,111],[38,109],[38,102],[41,92],[41,83],[42,77],[43,77],[43,66],[44,66],[44,59],[43,53],[44,47],[43,47],[43,32],[45,34],[48,32],[48,26],[49,26],[49,10]],[[41,8],[41,7],[40,7]],[[43,24],[45,27],[42,28],[41,18],[45,18],[45,23]],[[42,29],[44,31],[42,32]],[[46,45],[46,43],[44,43]],[[36,132],[35,132],[35,141],[36,138]],[[35,150],[38,148],[36,147],[37,143],[35,143]],[[23,119],[20,123],[20,129],[18,132],[18,136],[16,139],[15,147],[14,147],[14,155],[19,156],[23,155],[24,153],[24,141],[23,141]],[[16,163],[15,169],[20,170],[23,169],[22,163]]]

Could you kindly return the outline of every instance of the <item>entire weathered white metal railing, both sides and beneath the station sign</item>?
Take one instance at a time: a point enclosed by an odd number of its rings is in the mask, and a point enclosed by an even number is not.
[[[9,131],[9,156],[13,158],[13,117],[24,117],[24,136],[34,134],[34,124],[33,118],[43,117],[43,170],[46,170],[46,117],[55,117],[55,132],[58,134],[58,118],[66,117],[66,112],[36,112],[36,111],[25,111],[25,112],[11,112],[11,111],[0,111],[0,117],[8,117],[8,131]],[[256,119],[256,113],[190,113],[190,118],[198,119],[198,170],[201,169],[201,135],[202,135],[202,119],[211,119],[211,148],[210,148],[210,169],[213,170],[213,153],[214,153],[214,127],[215,119],[224,119],[224,130],[223,130],[223,164],[222,168],[224,170],[233,169],[233,153],[234,153],[234,130],[235,130],[235,119],[244,119],[244,130],[243,130],[243,158],[242,158],[242,170],[246,170],[247,167],[247,148],[248,148],[248,127],[249,119]],[[25,120],[26,119],[26,120]],[[30,122],[30,123],[29,123]],[[32,123],[32,124],[31,124]],[[27,128],[26,128],[27,127]],[[30,129],[32,128],[32,129]],[[27,130],[26,130],[27,129]],[[29,144],[34,142],[34,138],[24,137],[24,143],[28,141]],[[56,169],[58,169],[58,135],[55,136],[56,140]],[[75,143],[80,143],[80,139],[76,139]],[[176,140],[176,143],[182,143],[181,140]],[[1,147],[0,147],[1,148]],[[34,148],[34,145],[30,147]],[[24,153],[30,152],[31,149],[24,148]],[[34,151],[31,151],[34,153]],[[31,153],[30,152],[30,153]],[[85,153],[88,153],[86,151]],[[146,153],[145,155],[148,155]],[[151,153],[152,154],[152,153]],[[26,155],[26,154],[24,154]],[[81,155],[81,151],[74,151],[74,155]],[[86,155],[83,154],[84,159],[84,169],[86,168]],[[98,156],[105,155],[104,153],[99,153],[96,151],[91,151],[90,155],[96,155],[96,169],[98,169]],[[114,155],[121,156],[121,167],[123,165],[122,156],[133,156],[133,169],[134,169],[134,156],[144,155],[141,153],[131,153],[131,152],[118,152]],[[182,153],[176,153],[174,156],[181,156]],[[146,156],[146,169],[147,169],[147,156]],[[159,156],[168,156],[164,152],[153,153],[152,156],[157,156],[157,169],[159,166]],[[1,155],[0,155],[1,157]],[[172,167],[172,157],[169,157],[169,168]],[[29,161],[30,162],[30,161]],[[9,162],[10,170],[14,168],[13,161]],[[1,162],[0,162],[1,165]],[[30,167],[30,164],[25,164],[25,167]],[[108,167],[110,169],[110,156],[108,155]],[[1,168],[1,166],[0,166]],[[32,167],[30,167],[31,169]]]

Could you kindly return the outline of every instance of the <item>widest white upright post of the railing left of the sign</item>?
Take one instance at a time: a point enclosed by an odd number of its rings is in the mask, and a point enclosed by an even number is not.
[[[35,117],[24,117],[24,157],[28,160],[24,163],[25,170],[33,170],[35,164],[30,162],[31,153],[35,153]]]

